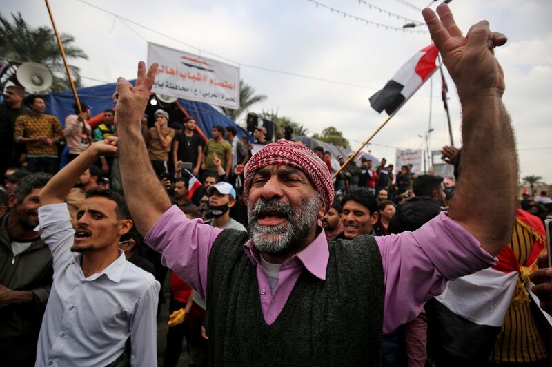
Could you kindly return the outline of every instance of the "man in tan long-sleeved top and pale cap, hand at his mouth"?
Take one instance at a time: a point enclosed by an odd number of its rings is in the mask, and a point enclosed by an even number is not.
[[[166,174],[168,152],[172,138],[175,137],[175,129],[168,124],[168,113],[163,109],[155,111],[155,125],[148,129],[148,156],[157,176]]]

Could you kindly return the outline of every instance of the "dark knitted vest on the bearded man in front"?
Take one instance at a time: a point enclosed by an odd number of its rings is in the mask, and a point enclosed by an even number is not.
[[[273,324],[264,321],[247,233],[210,251],[206,329],[214,366],[380,366],[384,273],[371,236],[329,242],[326,280],[302,271]]]

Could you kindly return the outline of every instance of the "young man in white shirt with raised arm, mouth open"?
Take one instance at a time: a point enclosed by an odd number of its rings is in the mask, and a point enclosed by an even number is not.
[[[76,231],[63,202],[99,156],[115,154],[117,138],[94,143],[48,182],[39,227],[52,251],[54,283],[39,336],[37,366],[157,366],[159,282],[128,262],[121,235],[132,227],[124,198],[110,190],[86,193]]]

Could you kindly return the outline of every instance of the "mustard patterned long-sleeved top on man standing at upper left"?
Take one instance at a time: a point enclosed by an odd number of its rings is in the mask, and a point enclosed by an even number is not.
[[[63,138],[61,123],[52,115],[21,115],[15,120],[13,134],[17,142],[21,138]],[[41,141],[26,143],[28,156],[57,156],[57,145]]]

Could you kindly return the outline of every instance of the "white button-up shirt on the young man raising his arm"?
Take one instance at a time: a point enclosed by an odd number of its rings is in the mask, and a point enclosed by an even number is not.
[[[106,366],[132,336],[132,366],[157,366],[159,282],[119,258],[83,275],[66,203],[39,208],[42,239],[54,259],[54,283],[39,336],[36,366]]]

